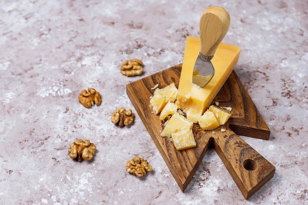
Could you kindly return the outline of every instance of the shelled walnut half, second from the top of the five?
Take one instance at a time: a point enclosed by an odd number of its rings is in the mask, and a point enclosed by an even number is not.
[[[78,96],[79,102],[86,108],[91,108],[91,106],[94,106],[94,103],[99,106],[101,104],[99,92],[94,88],[88,88],[88,91],[86,89],[81,91]]]

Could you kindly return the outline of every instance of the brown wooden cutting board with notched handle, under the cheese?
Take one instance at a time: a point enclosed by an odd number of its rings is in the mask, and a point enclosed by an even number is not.
[[[178,151],[172,141],[160,136],[162,122],[159,115],[152,113],[149,104],[150,96],[154,93],[151,88],[156,84],[159,85],[158,88],[164,88],[175,83],[178,88],[181,69],[182,64],[176,65],[128,84],[126,92],[129,99],[183,192],[208,147],[214,146],[245,199],[248,199],[274,176],[275,167],[238,135],[268,140],[270,130],[267,124],[233,71],[212,102],[231,107],[232,116],[227,123],[212,131],[205,131],[198,124],[194,124],[193,134],[197,146]],[[221,128],[226,131],[221,132]]]

